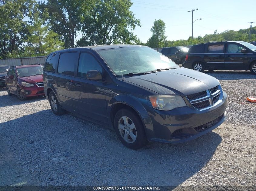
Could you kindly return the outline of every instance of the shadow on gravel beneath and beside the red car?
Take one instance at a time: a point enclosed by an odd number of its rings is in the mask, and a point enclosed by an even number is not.
[[[3,90],[6,91],[6,90]],[[5,95],[0,96],[0,107],[6,107],[6,106],[14,106],[14,105],[20,105],[25,103],[32,103],[34,101],[39,101],[45,99],[45,96],[35,96],[35,97],[28,97],[26,100],[19,100],[16,95],[9,96],[6,92]]]

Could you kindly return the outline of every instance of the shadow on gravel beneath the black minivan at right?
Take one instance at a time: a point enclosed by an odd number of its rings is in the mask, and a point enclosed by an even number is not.
[[[256,79],[256,75],[250,71],[205,71],[205,74],[211,75],[218,80],[241,80],[241,79]]]

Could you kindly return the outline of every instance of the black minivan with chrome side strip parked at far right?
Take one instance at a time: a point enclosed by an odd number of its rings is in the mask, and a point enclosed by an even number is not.
[[[185,67],[204,70],[251,70],[256,74],[256,46],[243,41],[203,43],[191,46]]]

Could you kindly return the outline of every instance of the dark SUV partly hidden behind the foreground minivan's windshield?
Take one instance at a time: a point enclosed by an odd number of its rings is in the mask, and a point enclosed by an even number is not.
[[[177,64],[181,64],[184,67],[185,57],[188,53],[188,48],[185,46],[167,47],[161,50],[161,53],[171,59]]]

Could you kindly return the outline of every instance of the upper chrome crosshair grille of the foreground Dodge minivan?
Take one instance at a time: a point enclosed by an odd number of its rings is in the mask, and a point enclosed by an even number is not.
[[[206,91],[187,96],[190,103],[198,110],[204,110],[212,107],[218,100],[223,98],[221,86],[218,85]]]

